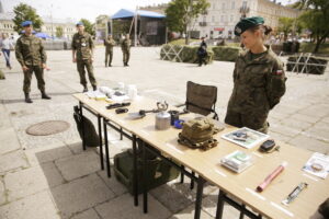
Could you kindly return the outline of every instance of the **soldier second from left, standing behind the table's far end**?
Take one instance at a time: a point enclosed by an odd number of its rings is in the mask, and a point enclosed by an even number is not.
[[[77,23],[78,33],[73,35],[72,38],[72,60],[77,62],[77,68],[80,76],[80,83],[83,85],[83,91],[87,92],[87,80],[86,70],[88,72],[89,81],[93,88],[97,90],[97,80],[93,76],[93,41],[89,33],[84,32],[84,25],[82,22]]]

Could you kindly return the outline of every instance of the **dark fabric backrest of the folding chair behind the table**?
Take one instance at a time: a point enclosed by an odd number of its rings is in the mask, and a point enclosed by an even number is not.
[[[214,119],[218,119],[215,111],[217,101],[217,88],[214,85],[202,85],[188,81],[186,84],[186,110],[207,116],[214,113]]]

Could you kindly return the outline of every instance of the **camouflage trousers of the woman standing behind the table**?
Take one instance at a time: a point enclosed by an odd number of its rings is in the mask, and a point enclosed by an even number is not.
[[[269,130],[269,123],[266,122],[269,113],[253,112],[250,114],[241,114],[231,110],[227,110],[225,123],[231,126],[241,128],[248,127],[266,134]]]

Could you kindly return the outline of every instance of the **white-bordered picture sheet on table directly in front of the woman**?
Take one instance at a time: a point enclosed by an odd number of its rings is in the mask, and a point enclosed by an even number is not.
[[[250,149],[257,146],[258,143],[265,141],[268,138],[270,138],[270,136],[243,127],[243,128],[239,128],[238,130],[231,131],[229,134],[225,134],[222,136],[222,138],[231,141],[234,143],[237,143],[243,148]]]

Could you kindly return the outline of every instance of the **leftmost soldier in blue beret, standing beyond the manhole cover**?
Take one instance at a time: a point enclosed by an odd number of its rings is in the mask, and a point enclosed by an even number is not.
[[[32,25],[33,23],[31,21],[24,21],[22,23],[24,34],[18,39],[15,45],[15,56],[24,72],[23,91],[26,103],[32,103],[30,91],[33,72],[37,80],[37,88],[42,93],[42,99],[50,99],[50,96],[48,96],[45,92],[44,80],[44,69],[47,69],[47,56],[42,39],[32,34]]]

